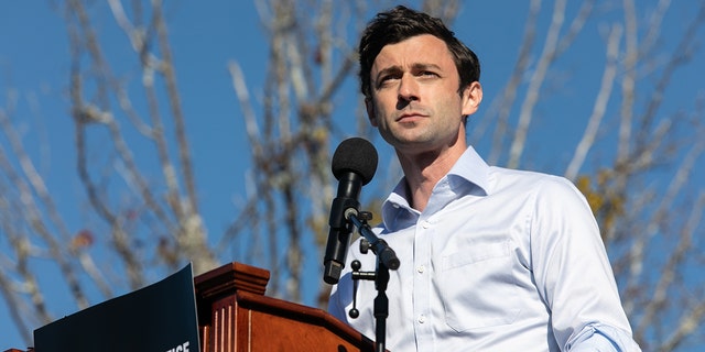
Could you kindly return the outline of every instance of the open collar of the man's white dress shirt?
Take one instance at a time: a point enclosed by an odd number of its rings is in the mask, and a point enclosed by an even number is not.
[[[446,199],[438,199],[441,204],[435,204],[433,208],[443,207],[451,200],[459,198],[463,194],[487,196],[489,194],[489,172],[490,167],[487,163],[477,154],[473,146],[468,146],[455,165],[453,165],[448,174],[434,187],[434,195],[431,196],[430,205],[434,201],[434,196]],[[436,190],[447,188],[447,185],[451,185],[449,187],[453,189],[464,189],[464,191],[452,196],[447,194],[443,196],[436,195]],[[398,228],[398,224],[401,224],[400,221],[403,222],[404,219],[417,218],[421,215],[409,205],[406,190],[406,178],[403,177],[382,205],[382,221],[387,229]]]

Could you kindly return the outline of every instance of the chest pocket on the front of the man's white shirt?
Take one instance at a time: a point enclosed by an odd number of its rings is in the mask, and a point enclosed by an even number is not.
[[[509,324],[521,311],[511,242],[481,243],[444,256],[438,276],[445,321],[455,331]]]

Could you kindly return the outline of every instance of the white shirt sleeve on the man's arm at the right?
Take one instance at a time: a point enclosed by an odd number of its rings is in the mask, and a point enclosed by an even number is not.
[[[595,217],[565,178],[534,189],[532,270],[564,351],[639,351]]]

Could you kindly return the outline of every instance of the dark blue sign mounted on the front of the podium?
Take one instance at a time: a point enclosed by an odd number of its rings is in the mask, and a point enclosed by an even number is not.
[[[34,330],[36,352],[198,352],[191,264],[133,293]]]

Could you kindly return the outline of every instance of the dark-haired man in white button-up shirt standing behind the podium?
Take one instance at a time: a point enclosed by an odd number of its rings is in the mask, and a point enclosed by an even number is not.
[[[387,289],[390,351],[639,351],[597,223],[566,179],[488,166],[467,145],[482,100],[477,56],[440,20],[404,7],[379,13],[359,46],[370,123],[404,178],[373,229],[401,266]],[[375,337],[375,283],[350,262],[329,311]]]

